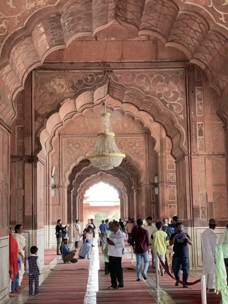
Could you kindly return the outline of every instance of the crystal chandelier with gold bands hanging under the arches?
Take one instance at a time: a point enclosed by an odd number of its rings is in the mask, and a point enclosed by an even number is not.
[[[97,133],[93,154],[89,155],[88,159],[95,168],[111,170],[114,167],[118,167],[123,158],[125,158],[125,154],[120,153],[116,146],[115,134],[112,132],[110,123],[110,113],[106,113],[105,103],[105,113],[101,115],[101,129]]]

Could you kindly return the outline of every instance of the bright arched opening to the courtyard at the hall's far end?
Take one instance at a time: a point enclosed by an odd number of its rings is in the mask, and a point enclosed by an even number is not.
[[[96,233],[102,220],[118,220],[120,218],[119,193],[105,182],[98,182],[90,187],[84,196],[84,226],[88,219],[94,219]]]

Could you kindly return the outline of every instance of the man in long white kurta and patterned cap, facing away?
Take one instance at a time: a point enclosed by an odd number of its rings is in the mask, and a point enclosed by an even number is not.
[[[202,233],[203,272],[207,275],[207,288],[210,292],[214,292],[215,290],[216,224],[216,219],[210,219],[209,228]]]

